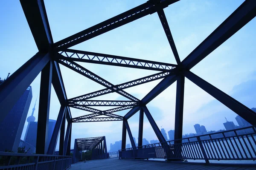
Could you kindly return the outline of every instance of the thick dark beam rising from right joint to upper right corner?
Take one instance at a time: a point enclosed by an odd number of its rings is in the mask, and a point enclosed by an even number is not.
[[[245,0],[212,34],[210,34],[183,61],[183,68],[187,70],[207,57],[213,50],[229,39],[239,29],[256,16],[256,1]]]

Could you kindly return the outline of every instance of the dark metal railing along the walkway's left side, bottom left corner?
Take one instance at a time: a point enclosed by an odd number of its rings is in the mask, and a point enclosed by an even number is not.
[[[0,170],[66,170],[71,156],[0,152]]]

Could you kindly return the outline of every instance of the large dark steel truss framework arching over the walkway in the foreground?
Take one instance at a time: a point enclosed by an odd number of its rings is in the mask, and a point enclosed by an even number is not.
[[[192,81],[195,85],[206,91],[222,104],[230,108],[239,116],[244,118],[251,125],[256,125],[256,113],[251,111],[242,103],[225,94],[223,91],[211,85],[209,82],[201,79],[190,71],[195,65],[201,62],[212,51],[218,48],[223,42],[229,39],[239,29],[245,26],[250,20],[256,16],[256,1],[245,0],[218,28],[216,28],[198,47],[196,47],[183,61],[180,60],[179,54],[175,47],[175,42],[172,37],[171,30],[166,20],[164,8],[176,3],[179,0],[148,0],[140,6],[132,8],[122,14],[116,15],[108,20],[103,21],[95,26],[84,29],[83,31],[71,35],[61,41],[53,42],[52,34],[49,27],[47,13],[43,0],[20,0],[29,28],[35,39],[38,47],[38,53],[22,65],[14,74],[12,74],[0,86],[0,110],[2,121],[9,113],[12,106],[20,98],[26,88],[32,83],[35,77],[41,72],[41,86],[38,112],[38,130],[36,153],[38,154],[53,154],[60,133],[60,155],[69,155],[71,129],[74,122],[102,122],[102,121],[122,121],[122,149],[125,149],[126,131],[131,140],[132,147],[135,143],[131,134],[127,120],[135,113],[140,111],[139,120],[139,140],[138,145],[142,145],[143,136],[143,116],[148,118],[154,133],[160,142],[165,142],[165,139],[157,127],[151,113],[148,111],[147,104],[157,95],[162,93],[166,88],[177,82],[176,91],[176,107],[175,107],[175,139],[182,138],[183,126],[183,99],[184,99],[184,79],[185,77]],[[79,51],[70,49],[74,45],[90,40],[115,28],[123,26],[134,20],[138,20],[149,14],[157,13],[163,26],[163,31],[169,41],[170,48],[176,59],[177,64],[149,61],[144,59],[135,59],[130,57],[121,57],[109,54],[99,54],[95,52]],[[111,82],[99,77],[87,68],[79,65],[77,62],[87,62],[100,65],[112,65],[118,67],[127,67],[134,69],[145,69],[159,71],[133,81],[124,82],[119,85],[114,85]],[[89,94],[82,94],[69,99],[67,97],[64,82],[61,75],[60,66],[64,65],[73,71],[93,80],[104,86],[102,90],[94,91]],[[147,94],[143,99],[137,99],[136,96],[125,91],[126,88],[131,88],[147,82],[161,79],[161,81]],[[58,113],[58,119],[52,135],[49,148],[45,147],[45,139],[47,133],[47,122],[49,119],[49,105],[51,85],[58,96],[61,104]],[[117,93],[127,100],[93,100],[94,97],[102,96],[110,93]],[[97,110],[92,106],[117,106],[110,110]],[[87,114],[80,117],[72,117],[71,108],[77,108],[84,111],[89,111]],[[118,111],[130,109],[125,116],[114,114]],[[65,130],[65,119],[67,119],[67,131]],[[66,134],[64,136],[64,134]],[[179,143],[180,141],[175,141]]]

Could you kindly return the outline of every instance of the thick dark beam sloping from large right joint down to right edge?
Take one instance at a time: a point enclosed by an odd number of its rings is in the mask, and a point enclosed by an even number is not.
[[[241,104],[236,99],[233,99],[231,96],[225,94],[218,88],[215,88],[213,85],[209,84],[204,79],[201,79],[197,75],[193,74],[191,71],[184,72],[184,76],[186,76],[190,81],[198,85],[208,94],[213,96],[219,102],[230,108],[236,114],[241,116],[251,125],[256,125],[256,113],[254,111],[250,110],[245,105]]]

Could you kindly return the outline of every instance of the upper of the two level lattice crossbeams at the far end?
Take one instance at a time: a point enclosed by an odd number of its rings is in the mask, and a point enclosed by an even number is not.
[[[128,106],[137,105],[137,102],[127,100],[84,100],[70,102],[69,105],[84,105],[84,106]]]

